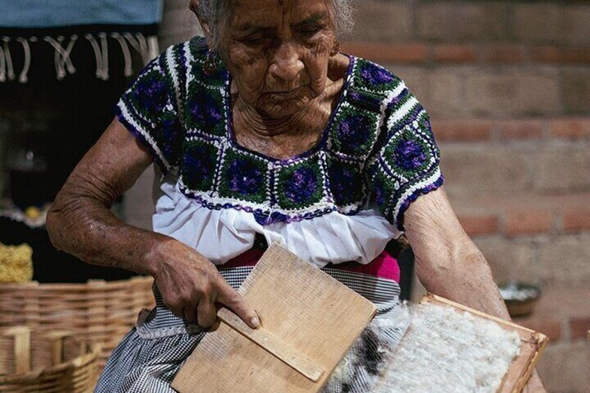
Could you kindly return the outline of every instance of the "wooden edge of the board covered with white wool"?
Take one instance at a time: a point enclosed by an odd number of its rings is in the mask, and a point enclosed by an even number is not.
[[[525,387],[527,381],[529,380],[536,363],[539,361],[541,353],[543,353],[545,346],[547,346],[548,338],[545,337],[545,335],[535,332],[534,330],[523,328],[523,326],[519,326],[516,323],[504,321],[504,319],[484,314],[483,312],[479,312],[470,307],[465,307],[464,305],[452,302],[451,300],[447,300],[433,294],[426,294],[426,296],[420,300],[420,304],[425,303],[442,305],[445,307],[454,307],[456,310],[470,312],[479,318],[494,321],[506,330],[516,331],[518,335],[520,335],[520,340],[522,343],[522,346],[520,347],[520,353],[513,360],[507,371],[507,374],[504,375],[504,378],[502,379],[502,385],[500,386],[498,392],[508,393],[520,392],[523,390],[523,387]]]

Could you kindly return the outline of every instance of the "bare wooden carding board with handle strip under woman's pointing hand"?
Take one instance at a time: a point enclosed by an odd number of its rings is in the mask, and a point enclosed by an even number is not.
[[[186,360],[174,389],[318,392],[376,312],[369,300],[277,244],[264,253],[239,292],[260,316],[262,334],[239,321],[229,321],[233,328],[218,323]],[[218,314],[231,319],[227,312]],[[263,348],[266,332],[271,344]],[[283,359],[285,354],[298,358],[289,365],[280,360],[281,351]],[[309,375],[296,371],[297,365]],[[318,369],[314,382],[310,376]]]

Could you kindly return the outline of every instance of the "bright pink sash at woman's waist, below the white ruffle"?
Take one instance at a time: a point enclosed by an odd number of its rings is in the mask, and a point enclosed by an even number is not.
[[[262,257],[261,250],[250,248],[250,250],[244,252],[233,259],[230,259],[218,268],[230,268],[239,266],[255,266],[258,259]],[[394,280],[399,282],[399,264],[397,259],[392,257],[389,252],[383,251],[375,259],[366,265],[358,264],[356,262],[345,262],[344,264],[327,264],[326,268],[335,268],[344,271],[351,271],[354,273],[363,273],[372,275],[378,278],[385,278],[387,280]]]

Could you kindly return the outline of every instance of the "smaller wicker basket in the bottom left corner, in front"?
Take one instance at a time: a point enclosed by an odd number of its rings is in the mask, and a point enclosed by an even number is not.
[[[0,392],[92,392],[99,354],[70,332],[0,329]]]

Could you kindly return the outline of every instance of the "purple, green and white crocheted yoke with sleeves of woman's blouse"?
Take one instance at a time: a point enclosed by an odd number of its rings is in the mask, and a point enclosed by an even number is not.
[[[119,118],[162,170],[179,169],[186,198],[250,212],[262,225],[353,215],[376,204],[401,229],[410,201],[442,184],[428,115],[385,68],[350,57],[319,143],[278,160],[235,140],[230,74],[223,65],[203,73],[206,51],[197,39],[170,47],[118,104]]]

